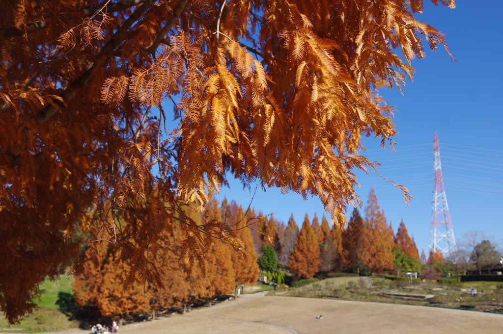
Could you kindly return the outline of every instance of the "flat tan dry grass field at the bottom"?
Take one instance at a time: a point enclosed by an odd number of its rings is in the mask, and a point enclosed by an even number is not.
[[[245,295],[120,329],[123,334],[501,333],[503,315],[373,302]],[[323,315],[316,319],[316,315]],[[66,331],[60,334],[85,333]]]

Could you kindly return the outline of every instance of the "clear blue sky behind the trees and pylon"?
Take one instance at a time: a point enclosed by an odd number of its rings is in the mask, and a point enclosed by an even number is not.
[[[447,200],[456,241],[469,231],[483,231],[503,244],[503,107],[500,77],[501,13],[503,2],[458,1],[456,9],[435,7],[425,1],[420,20],[447,34],[457,62],[445,50],[427,51],[427,57],[413,60],[413,82],[402,89],[383,89],[389,105],[398,110],[394,123],[400,133],[394,138],[397,153],[382,150],[379,139],[365,139],[365,153],[381,162],[379,172],[405,185],[414,199],[407,206],[398,190],[380,176],[357,172],[364,202],[373,186],[381,209],[396,231],[403,218],[417,248],[428,254],[432,213],[433,136],[440,139],[440,154]],[[237,182],[223,188],[221,200],[234,199],[246,206],[253,195]],[[302,200],[298,194],[281,194],[279,189],[258,189],[252,206],[276,219],[288,221],[293,212],[301,224],[307,212],[323,214],[318,198]],[[349,214],[352,208],[350,208]],[[363,214],[363,212],[362,212]]]

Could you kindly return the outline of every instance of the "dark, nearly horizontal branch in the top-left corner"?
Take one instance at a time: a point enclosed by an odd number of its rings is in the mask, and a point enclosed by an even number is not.
[[[75,10],[73,13],[66,13],[66,14],[61,14],[58,15],[57,19],[59,22],[65,22],[65,21],[70,21],[70,20],[75,20],[78,18],[89,18],[95,15],[96,13],[99,13],[101,11],[105,13],[113,13],[113,12],[118,12],[122,11],[131,7],[134,7],[136,5],[142,4],[147,0],[125,0],[120,3],[115,3],[111,5],[107,5],[105,10],[103,10],[103,6],[99,7],[89,7],[89,8],[81,8]],[[39,21],[34,21],[26,24],[25,29],[22,28],[16,28],[16,27],[7,27],[7,28],[0,28],[0,37],[2,38],[12,38],[12,37],[17,37],[17,36],[23,36],[25,33],[31,34],[33,32],[42,30],[46,28],[47,26],[47,21],[46,20],[39,20]]]

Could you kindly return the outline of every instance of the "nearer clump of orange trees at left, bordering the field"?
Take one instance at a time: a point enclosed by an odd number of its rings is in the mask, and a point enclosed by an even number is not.
[[[96,305],[102,316],[123,317],[213,298],[232,291],[236,284],[254,283],[259,267],[250,230],[246,228],[245,219],[242,219],[245,217],[243,209],[234,201],[229,205],[226,201],[222,204],[225,220],[228,224],[235,224],[233,233],[239,238],[236,242],[242,243],[239,248],[246,259],[242,253],[232,250],[228,243],[214,240],[204,262],[206,276],[196,271],[187,279],[177,262],[184,236],[180,225],[175,224],[173,234],[159,235],[155,248],[149,248],[146,255],[150,261],[149,270],[159,270],[160,281],[142,284],[140,279],[123,291],[124,275],[130,268],[120,258],[118,244],[97,241],[84,254],[86,270],[77,275],[73,283],[77,304],[81,307]],[[221,218],[216,199],[212,198],[207,208],[205,219]],[[204,224],[194,208],[185,208],[185,213],[197,224]]]

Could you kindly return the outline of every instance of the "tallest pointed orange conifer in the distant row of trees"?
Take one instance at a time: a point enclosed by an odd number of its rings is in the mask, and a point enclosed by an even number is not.
[[[371,187],[365,207],[364,233],[362,238],[362,262],[371,272],[382,273],[393,270],[395,246],[393,236],[386,223],[384,211],[379,210],[377,196]]]

